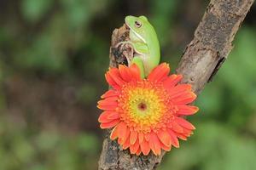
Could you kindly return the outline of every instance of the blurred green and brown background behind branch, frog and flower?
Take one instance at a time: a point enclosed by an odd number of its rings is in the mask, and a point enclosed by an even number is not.
[[[125,15],[145,14],[175,70],[208,1],[0,1],[0,170],[96,169],[108,49]],[[256,169],[256,6],[189,120],[195,134],[160,170]]]

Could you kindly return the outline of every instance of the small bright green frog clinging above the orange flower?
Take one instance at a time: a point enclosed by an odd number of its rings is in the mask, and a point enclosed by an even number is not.
[[[131,44],[135,52],[131,63],[139,67],[142,78],[147,77],[160,62],[160,44],[154,27],[145,16],[126,16],[125,25],[130,28],[130,41],[121,43]]]

